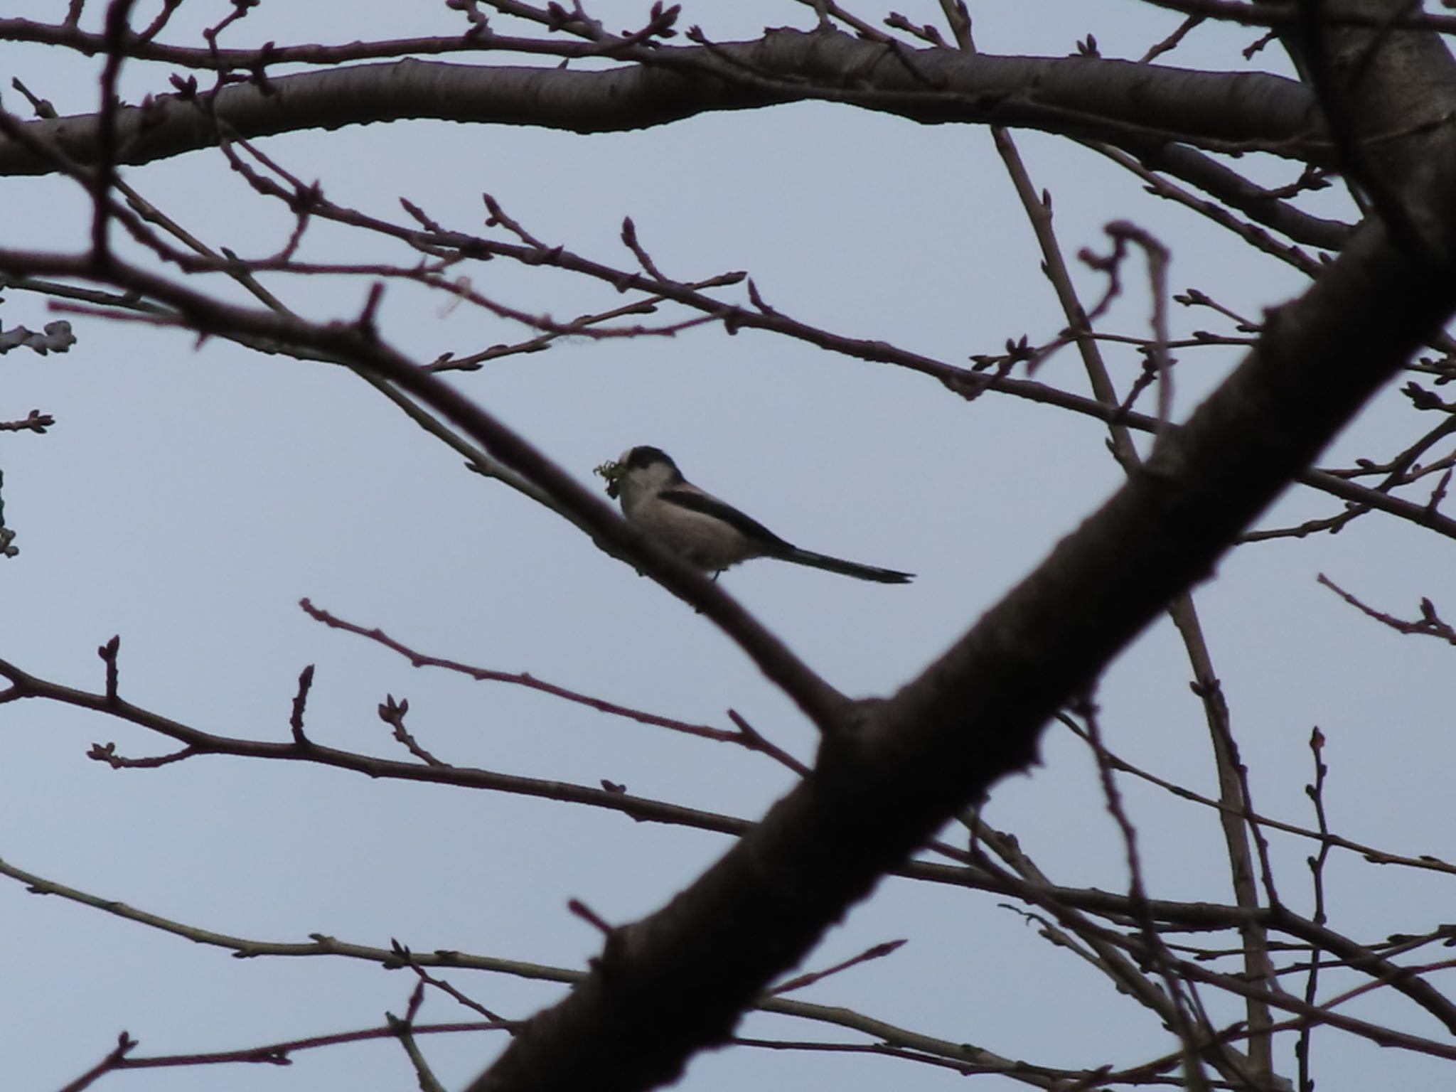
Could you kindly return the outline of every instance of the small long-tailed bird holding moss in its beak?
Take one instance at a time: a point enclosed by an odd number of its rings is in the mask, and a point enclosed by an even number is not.
[[[907,584],[913,578],[909,572],[801,550],[689,482],[657,447],[623,451],[617,462],[598,466],[597,473],[607,479],[607,496],[622,499],[628,523],[713,575],[750,558],[778,558],[881,584]]]

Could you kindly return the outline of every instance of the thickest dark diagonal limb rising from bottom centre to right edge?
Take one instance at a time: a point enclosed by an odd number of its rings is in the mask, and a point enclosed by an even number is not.
[[[1440,182],[1408,194],[1456,236]],[[1034,757],[1041,725],[1219,556],[1456,309],[1456,268],[1370,224],[1099,513],[936,664],[824,741],[814,775],[667,907],[607,941],[472,1092],[641,1089],[722,1042],[965,804]]]

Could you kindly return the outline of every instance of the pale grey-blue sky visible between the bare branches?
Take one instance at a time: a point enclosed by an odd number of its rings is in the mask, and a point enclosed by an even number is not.
[[[98,23],[102,6],[89,12]],[[141,3],[135,22],[156,4]],[[917,22],[936,4],[895,6]],[[1178,19],[1131,3],[973,3],[978,47],[1061,55],[1089,31],[1105,55],[1140,55]],[[9,16],[58,17],[57,0],[10,0]],[[166,38],[198,44],[224,3],[188,0]],[[593,3],[612,26],[646,4]],[[875,4],[856,10],[874,16]],[[881,13],[882,15],[882,13]],[[690,4],[686,23],[716,39],[763,26],[812,26],[792,3]],[[459,32],[437,4],[288,4],[266,0],[227,31],[232,47],[345,42]],[[1257,32],[1204,29],[1166,58],[1238,68]],[[463,60],[463,58],[456,58]],[[483,58],[491,60],[491,58]],[[513,58],[508,63],[530,63]],[[1249,66],[1284,71],[1274,50]],[[61,114],[96,106],[99,61],[0,44],[4,103],[20,77]],[[122,93],[169,90],[167,66],[130,63]],[[1018,134],[1034,181],[1051,191],[1067,253],[1107,249],[1102,226],[1136,220],[1174,252],[1175,290],[1200,287],[1254,317],[1302,278],[1066,140]],[[441,122],[304,132],[261,143],[336,202],[396,218],[409,197],[446,224],[479,230],[480,192],[550,242],[628,265],[630,215],[658,265],[684,280],[747,269],[766,300],[837,332],[884,338],[948,361],[1063,325],[1038,272],[1031,232],[989,134],[920,127],[830,105],[719,114],[646,132],[579,137]],[[1246,165],[1245,165],[1246,166]],[[1293,179],[1287,166],[1270,178]],[[293,227],[221,154],[195,153],[125,178],[214,246],[278,249]],[[1348,215],[1338,194],[1312,202]],[[6,246],[80,248],[84,195],[60,179],[0,185]],[[304,256],[409,261],[373,239],[316,223]],[[1077,271],[1089,298],[1101,281]],[[475,287],[529,312],[571,317],[610,306],[610,290],[504,261]],[[358,313],[368,280],[265,278],[310,317]],[[1142,278],[1112,325],[1146,332]],[[218,288],[227,291],[226,288]],[[39,328],[45,300],[6,291],[0,323]],[[469,354],[524,331],[440,297],[392,287],[383,335],[418,361]],[[1175,309],[1179,331],[1227,329]],[[0,418],[51,412],[45,437],[0,434],[4,514],[20,555],[0,566],[0,657],[99,689],[96,646],[119,633],[130,700],[208,731],[287,738],[296,680],[317,664],[307,725],[322,743],[403,759],[376,713],[408,697],[409,724],[441,757],[492,770],[597,785],[754,817],[789,785],[766,759],[686,740],[496,684],[415,671],[399,657],[323,629],[309,596],[425,652],[530,671],[587,693],[727,725],[734,708],[804,759],[814,740],[794,708],[690,609],[598,552],[572,526],[467,473],[352,374],[265,357],[179,332],[73,319],[66,355],[0,358]],[[1118,325],[1120,323],[1120,325]],[[1108,349],[1118,381],[1133,351]],[[1236,363],[1233,349],[1182,354],[1178,415]],[[1064,352],[1045,381],[1082,390]],[[591,467],[651,443],[689,476],[785,537],[910,569],[909,587],[846,581],[759,562],[725,587],[831,683],[887,693],[913,677],[1117,485],[1104,430],[1010,397],[965,403],[933,380],[745,331],[674,339],[574,341],[459,379],[463,390],[585,483]],[[1388,392],[1326,462],[1385,457],[1409,434]],[[1335,511],[1294,492],[1268,523]],[[1382,515],[1337,537],[1241,549],[1198,591],[1257,807],[1312,820],[1310,728],[1329,738],[1328,807],[1337,831],[1405,853],[1450,856],[1450,649],[1402,639],[1315,584],[1328,572],[1367,601],[1409,614],[1421,596],[1456,613],[1450,545]],[[1108,743],[1130,760],[1211,791],[1208,743],[1172,628],[1156,626],[1107,676]],[[0,706],[0,856],[108,898],[258,939],[339,939],[456,948],[584,967],[600,936],[566,911],[581,898],[612,922],[649,913],[727,846],[713,834],[520,796],[371,782],[357,775],[237,759],[114,772],[84,753],[114,740],[154,754],[163,741],[119,722],[28,702]],[[1123,847],[1095,766],[1064,729],[1044,766],[997,786],[987,818],[1018,833],[1060,882],[1121,890]],[[1125,780],[1125,779],[1124,779]],[[1227,901],[1216,826],[1191,805],[1124,783],[1143,831],[1152,891]],[[1273,839],[1286,898],[1307,911],[1310,843]],[[1425,927],[1450,904],[1449,878],[1376,869],[1337,853],[1332,925],[1360,939]],[[893,958],[804,992],[954,1041],[1047,1064],[1125,1063],[1172,1045],[1136,1003],[1042,941],[990,895],[890,879],[826,939],[811,967],[909,938]],[[1449,919],[1449,913],[1444,914]],[[0,1050],[6,1088],[54,1089],[98,1061],[121,1029],[138,1054],[240,1048],[364,1028],[402,1012],[412,978],[370,964],[239,961],[0,881]],[[482,1003],[526,1016],[559,987],[505,976],[447,976]],[[1447,983],[1450,978],[1446,980]],[[1350,1012],[1401,1019],[1388,992]],[[421,1019],[469,1019],[438,996]],[[1439,1035],[1433,1021],[1405,1026]],[[745,1034],[850,1040],[783,1018]],[[457,1088],[504,1045],[499,1034],[424,1047]],[[1319,1032],[1321,1092],[1379,1082],[1450,1082],[1449,1066]],[[1284,1072],[1291,1072],[1287,1044]],[[1010,1088],[997,1077],[978,1086]],[[732,1050],[699,1057],[681,1088],[962,1088],[948,1070],[862,1056]],[[402,1089],[414,1075],[395,1042],[296,1056],[291,1067],[215,1066],[112,1075],[116,1089]]]

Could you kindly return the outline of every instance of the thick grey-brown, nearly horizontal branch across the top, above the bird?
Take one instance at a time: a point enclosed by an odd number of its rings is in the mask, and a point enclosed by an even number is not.
[[[579,44],[562,50],[569,55]],[[211,111],[243,137],[403,118],[607,132],[713,111],[830,100],[929,124],[1064,132],[1134,153],[1150,143],[1188,141],[1322,157],[1307,90],[1262,73],[1204,73],[1099,57],[891,51],[843,33],[796,31],[713,47],[638,48],[633,55],[644,63],[593,71],[419,60],[355,64],[233,83],[210,96]],[[96,157],[98,125],[96,115],[76,115],[32,121],[28,130],[89,163]],[[215,143],[213,118],[189,96],[159,95],[116,112],[118,163],[150,163]],[[0,140],[0,175],[54,169],[32,149]]]

